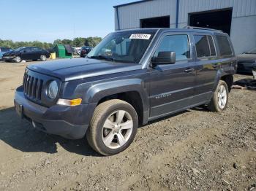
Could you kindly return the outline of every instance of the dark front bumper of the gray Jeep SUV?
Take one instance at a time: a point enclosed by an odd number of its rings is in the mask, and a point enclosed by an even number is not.
[[[48,108],[29,101],[21,87],[16,90],[14,103],[19,116],[31,122],[34,128],[67,139],[85,136],[95,108],[94,104],[54,105]]]

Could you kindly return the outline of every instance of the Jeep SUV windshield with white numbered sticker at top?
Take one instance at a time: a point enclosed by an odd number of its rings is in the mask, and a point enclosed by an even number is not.
[[[88,58],[139,63],[155,31],[123,31],[109,34],[88,54]]]

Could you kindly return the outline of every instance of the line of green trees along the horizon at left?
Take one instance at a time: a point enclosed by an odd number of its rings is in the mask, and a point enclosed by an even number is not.
[[[53,48],[56,44],[70,44],[72,47],[83,47],[83,46],[95,47],[101,40],[102,38],[98,36],[88,37],[88,38],[77,37],[72,40],[56,39],[53,43],[39,42],[39,41],[13,42],[12,40],[0,39],[0,47],[9,47],[12,49],[15,49],[18,47],[40,47],[46,50]]]

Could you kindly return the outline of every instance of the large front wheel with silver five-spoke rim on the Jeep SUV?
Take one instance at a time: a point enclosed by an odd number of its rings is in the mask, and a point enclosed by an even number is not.
[[[113,99],[99,104],[86,138],[101,155],[116,155],[132,143],[138,128],[138,115],[132,105]]]

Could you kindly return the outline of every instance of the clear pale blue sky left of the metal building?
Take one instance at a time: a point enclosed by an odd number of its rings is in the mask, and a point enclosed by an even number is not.
[[[53,42],[104,37],[115,30],[113,6],[129,2],[132,0],[0,0],[0,39]]]

